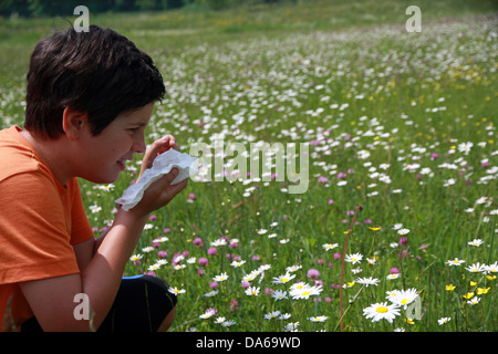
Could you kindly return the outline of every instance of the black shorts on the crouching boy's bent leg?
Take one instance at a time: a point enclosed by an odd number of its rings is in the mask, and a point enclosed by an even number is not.
[[[124,277],[116,299],[97,332],[156,332],[176,305],[168,284],[152,275]],[[21,332],[41,332],[35,317]]]

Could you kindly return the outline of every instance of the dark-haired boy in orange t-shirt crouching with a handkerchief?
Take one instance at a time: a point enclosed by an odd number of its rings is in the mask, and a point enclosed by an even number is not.
[[[113,183],[145,152],[145,127],[165,94],[159,71],[128,39],[92,25],[41,40],[27,79],[24,129],[0,132],[0,329],[166,330],[176,305],[167,285],[122,275],[148,214],[187,181],[170,186],[172,170],[95,240],[76,179]],[[141,176],[175,145],[170,135],[154,142]],[[75,316],[81,293],[90,320]]]

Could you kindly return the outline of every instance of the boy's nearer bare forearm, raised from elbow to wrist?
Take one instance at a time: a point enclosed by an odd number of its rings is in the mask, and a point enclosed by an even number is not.
[[[113,226],[95,242],[94,256],[81,272],[82,289],[90,298],[98,326],[114,302],[124,268],[142,235],[147,217],[120,210]]]

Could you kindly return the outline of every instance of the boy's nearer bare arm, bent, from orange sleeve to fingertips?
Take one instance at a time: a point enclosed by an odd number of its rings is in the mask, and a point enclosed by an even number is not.
[[[102,243],[95,248],[90,261],[87,257],[92,248],[89,246],[92,244],[82,242],[80,247],[75,247],[76,254],[82,254],[79,264],[84,266],[80,273],[20,284],[44,331],[90,330],[89,321],[74,319],[73,311],[77,303],[73,300],[77,293],[89,296],[94,314],[93,325],[100,326],[114,302],[124,267],[136,247],[148,214],[167,205],[187,185],[185,180],[170,186],[176,175],[177,170],[173,169],[151,185],[141,202],[132,210],[120,210],[113,226],[102,241],[98,241]],[[93,242],[95,246],[96,242]]]

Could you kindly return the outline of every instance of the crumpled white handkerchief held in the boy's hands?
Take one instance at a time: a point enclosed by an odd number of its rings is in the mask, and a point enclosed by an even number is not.
[[[175,149],[160,154],[154,159],[153,166],[144,171],[141,179],[123,192],[116,204],[126,211],[132,209],[142,200],[144,191],[162,176],[169,174],[172,168],[178,168],[178,176],[172,181],[172,185],[176,185],[190,177],[190,168],[193,171],[197,170],[197,162],[198,158]]]

